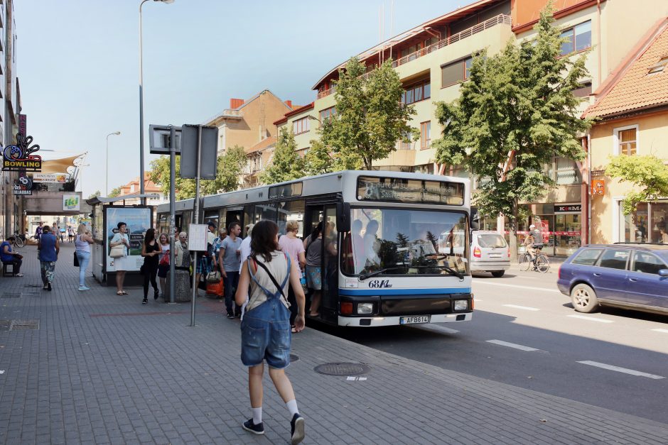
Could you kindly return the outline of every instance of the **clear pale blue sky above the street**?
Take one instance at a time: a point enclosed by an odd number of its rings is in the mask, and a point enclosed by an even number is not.
[[[471,3],[394,0],[394,34]],[[384,0],[385,38],[390,0]],[[146,170],[149,123],[203,123],[271,89],[307,104],[311,87],[379,41],[382,1],[147,1],[144,15]],[[139,0],[18,0],[17,72],[28,134],[43,158],[88,152],[84,197],[139,175]]]

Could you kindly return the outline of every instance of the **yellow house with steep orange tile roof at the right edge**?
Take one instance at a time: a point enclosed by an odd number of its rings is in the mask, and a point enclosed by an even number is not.
[[[591,242],[668,242],[668,197],[642,203],[629,216],[621,203],[632,185],[605,175],[608,157],[655,155],[668,163],[668,14],[637,40],[596,92],[591,128]]]

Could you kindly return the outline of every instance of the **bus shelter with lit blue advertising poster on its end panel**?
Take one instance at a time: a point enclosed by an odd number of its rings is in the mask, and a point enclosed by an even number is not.
[[[136,204],[141,198],[156,198],[156,194],[127,194],[119,197],[94,197],[87,199],[92,207],[92,236],[95,243],[91,246],[92,274],[102,285],[116,284],[116,268],[114,258],[109,256],[111,246],[109,242],[118,232],[119,222],[127,225],[127,234],[130,238],[126,262],[126,286],[139,286],[143,278],[139,273],[144,258],[141,257],[141,248],[144,246],[146,230],[153,227],[153,206]],[[127,265],[129,264],[129,265]]]

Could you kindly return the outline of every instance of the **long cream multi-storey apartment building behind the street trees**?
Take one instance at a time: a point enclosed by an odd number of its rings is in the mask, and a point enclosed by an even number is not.
[[[480,0],[456,11],[433,18],[357,55],[375,70],[392,58],[392,66],[404,84],[404,103],[416,110],[409,124],[419,129],[420,138],[411,143],[397,143],[388,158],[375,161],[381,170],[402,170],[436,174],[470,176],[456,165],[438,165],[431,141],[439,138],[443,128],[435,111],[437,101],[453,101],[459,95],[460,82],[468,77],[471,55],[487,48],[489,54],[500,52],[508,40],[519,41],[535,35],[533,26],[547,0]],[[554,2],[556,26],[570,42],[562,48],[564,57],[587,52],[588,79],[575,93],[586,101],[623,60],[632,46],[664,14],[664,0],[643,1],[642,8],[625,0],[557,0]],[[623,29],[623,32],[620,30]],[[276,125],[292,127],[298,135],[298,150],[308,150],[318,138],[320,121],[335,113],[334,82],[345,62],[321,77],[313,90],[312,107],[286,114]],[[297,111],[297,110],[296,110]],[[583,135],[583,143],[586,140]],[[549,231],[550,245],[545,250],[567,255],[588,241],[588,165],[564,158],[554,158],[545,166],[546,173],[558,187],[549,190],[537,202],[526,202],[534,217]],[[478,178],[473,178],[474,185]],[[532,221],[522,221],[525,229]],[[485,221],[485,228],[507,230],[503,219]]]

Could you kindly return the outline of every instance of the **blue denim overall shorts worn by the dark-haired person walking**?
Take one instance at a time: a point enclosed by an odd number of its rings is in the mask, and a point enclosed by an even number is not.
[[[290,257],[288,274],[281,283],[283,289],[290,277]],[[266,360],[270,368],[283,369],[290,364],[290,310],[281,302],[281,290],[271,292],[260,285],[248,262],[252,280],[266,295],[266,302],[244,314],[241,322],[241,361],[244,366],[256,366]]]

